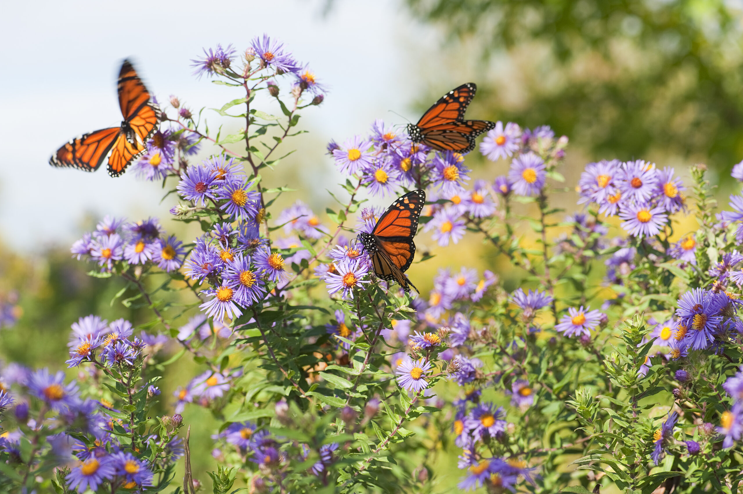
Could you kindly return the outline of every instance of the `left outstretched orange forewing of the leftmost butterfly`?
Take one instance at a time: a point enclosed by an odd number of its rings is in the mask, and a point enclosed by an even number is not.
[[[49,164],[94,172],[111,152],[114,143],[122,139],[126,140],[119,127],[101,129],[82,135],[57,149],[49,159]]]

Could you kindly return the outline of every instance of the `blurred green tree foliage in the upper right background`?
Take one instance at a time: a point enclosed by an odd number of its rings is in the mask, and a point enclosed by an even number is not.
[[[476,72],[508,69],[478,80],[491,120],[547,123],[596,158],[660,150],[721,172],[743,157],[740,2],[406,3],[470,53]]]

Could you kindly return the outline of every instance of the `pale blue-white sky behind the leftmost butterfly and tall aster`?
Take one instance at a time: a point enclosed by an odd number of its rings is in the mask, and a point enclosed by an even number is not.
[[[332,179],[320,143],[365,132],[376,117],[405,123],[428,86],[421,67],[438,36],[409,19],[398,1],[65,1],[13,2],[0,19],[0,240],[16,250],[67,244],[86,214],[165,215],[159,185],[133,173],[108,177],[53,169],[51,153],[85,131],[117,126],[115,77],[131,56],[160,101],[176,94],[192,107],[219,107],[234,96],[192,77],[203,47],[245,48],[269,33],[331,88],[305,112],[317,183]],[[421,65],[423,64],[423,65]],[[448,79],[448,78],[447,78]],[[441,83],[442,94],[448,81]],[[216,123],[216,122],[215,122]],[[103,166],[105,168],[105,165]],[[310,179],[308,179],[310,180]],[[308,183],[315,186],[317,183]]]

